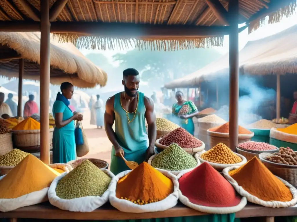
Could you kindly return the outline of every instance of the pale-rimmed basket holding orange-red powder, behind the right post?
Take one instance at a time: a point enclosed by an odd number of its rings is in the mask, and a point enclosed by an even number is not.
[[[212,131],[207,131],[208,139],[209,139],[209,145],[210,147],[214,147],[215,145],[219,143],[225,144],[227,147],[229,147],[229,133],[217,133]],[[244,143],[247,141],[251,141],[251,138],[255,135],[255,133],[250,134],[238,134],[238,144]]]

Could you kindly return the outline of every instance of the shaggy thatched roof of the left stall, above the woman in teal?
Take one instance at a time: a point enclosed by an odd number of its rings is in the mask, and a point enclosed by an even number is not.
[[[40,33],[0,32],[1,57],[18,54],[24,59],[24,78],[39,80]],[[0,61],[0,75],[18,77],[19,59]],[[94,65],[72,43],[50,42],[50,83],[71,82],[86,88],[97,84],[105,86],[107,74]]]

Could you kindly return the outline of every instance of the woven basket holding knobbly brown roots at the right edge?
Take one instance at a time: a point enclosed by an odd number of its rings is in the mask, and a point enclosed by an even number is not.
[[[297,187],[297,166],[273,163],[265,159],[265,157],[271,155],[272,153],[261,153],[259,154],[259,159],[271,173]]]

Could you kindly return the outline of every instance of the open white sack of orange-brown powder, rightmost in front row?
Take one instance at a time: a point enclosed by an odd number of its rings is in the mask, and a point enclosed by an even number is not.
[[[296,188],[273,175],[257,157],[241,167],[225,168],[223,175],[249,202],[264,207],[290,207],[297,203]]]

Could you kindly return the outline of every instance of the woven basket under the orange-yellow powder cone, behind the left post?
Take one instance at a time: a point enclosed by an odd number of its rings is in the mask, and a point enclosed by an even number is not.
[[[54,128],[50,128],[49,143],[53,141]],[[40,146],[40,130],[12,130],[13,139],[17,147]]]

